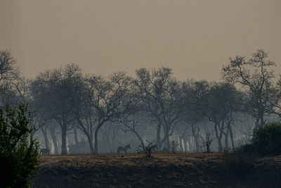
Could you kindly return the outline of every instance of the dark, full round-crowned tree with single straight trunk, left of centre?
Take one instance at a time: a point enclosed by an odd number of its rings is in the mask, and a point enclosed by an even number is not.
[[[41,108],[46,119],[55,120],[60,127],[62,154],[67,154],[66,134],[75,120],[74,102],[78,101],[82,81],[81,69],[72,63],[65,68],[46,70],[32,83],[34,106]]]

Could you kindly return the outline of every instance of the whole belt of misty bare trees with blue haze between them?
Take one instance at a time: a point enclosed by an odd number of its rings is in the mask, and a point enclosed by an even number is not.
[[[202,152],[234,148],[251,130],[280,121],[281,78],[268,53],[226,60],[220,82],[177,80],[171,68],[138,68],[126,73],[86,75],[79,65],[45,70],[32,80],[16,68],[11,51],[0,51],[1,108],[28,103],[34,136],[51,153],[116,153],[145,141],[159,150]]]

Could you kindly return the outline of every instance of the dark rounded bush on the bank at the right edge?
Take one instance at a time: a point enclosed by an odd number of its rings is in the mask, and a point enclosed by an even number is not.
[[[268,123],[254,129],[252,144],[260,155],[280,155],[281,123]]]

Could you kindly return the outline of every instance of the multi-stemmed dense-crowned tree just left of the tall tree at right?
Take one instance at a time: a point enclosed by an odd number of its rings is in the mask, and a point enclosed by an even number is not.
[[[198,96],[203,115],[214,123],[218,151],[223,151],[222,139],[225,136],[225,144],[228,147],[228,134],[233,139],[231,125],[233,113],[240,111],[240,95],[237,89],[228,83],[198,82]]]

